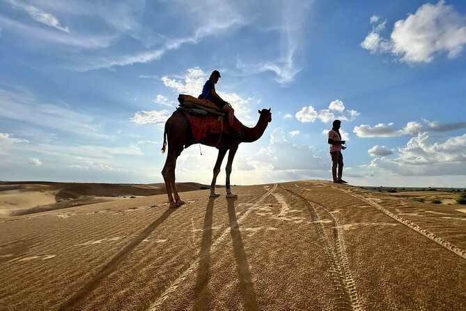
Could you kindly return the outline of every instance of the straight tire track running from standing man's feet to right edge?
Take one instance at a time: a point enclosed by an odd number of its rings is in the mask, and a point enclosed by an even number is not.
[[[444,240],[440,236],[437,236],[436,234],[433,234],[432,232],[429,232],[426,229],[422,229],[418,225],[414,224],[413,222],[410,222],[409,220],[405,220],[404,218],[401,218],[398,215],[395,215],[394,213],[391,213],[391,211],[388,211],[386,208],[382,207],[380,204],[377,204],[373,202],[373,200],[369,199],[368,197],[364,197],[364,195],[357,195],[356,193],[352,192],[350,189],[345,190],[341,189],[339,187],[336,187],[334,185],[331,185],[332,188],[339,190],[341,192],[344,192],[352,197],[355,197],[357,199],[360,199],[367,204],[370,204],[371,206],[377,208],[379,211],[384,213],[385,215],[389,216],[390,218],[393,218],[397,222],[400,222],[401,224],[405,225],[406,227],[414,230],[414,232],[417,232],[426,238],[428,238],[431,241],[434,241],[438,245],[441,245],[442,247],[446,248],[450,252],[453,252],[453,254],[458,255],[459,257],[466,259],[466,250],[462,250],[461,248],[458,248],[458,246],[453,245],[449,241]]]

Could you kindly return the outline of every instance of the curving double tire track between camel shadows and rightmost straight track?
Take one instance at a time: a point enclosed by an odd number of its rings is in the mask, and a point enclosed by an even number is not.
[[[329,275],[334,288],[334,302],[338,310],[357,310],[362,311],[361,299],[357,294],[355,280],[352,278],[348,255],[346,254],[345,240],[343,238],[343,229],[339,224],[338,218],[331,213],[325,206],[318,202],[311,201],[298,195],[296,192],[284,188],[290,195],[301,199],[309,208],[311,218],[316,227],[319,236],[320,246],[324,251],[325,259],[329,269]],[[323,222],[320,221],[316,208],[323,209],[332,219],[332,229],[335,238],[335,246],[332,247],[327,233],[325,233]]]

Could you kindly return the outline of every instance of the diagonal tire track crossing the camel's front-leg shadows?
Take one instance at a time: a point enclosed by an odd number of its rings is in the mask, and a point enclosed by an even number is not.
[[[260,199],[258,199],[256,201],[256,203],[254,203],[254,206],[257,206],[258,204],[260,204],[266,197],[268,197],[269,195],[272,194],[272,192],[274,192],[275,189],[277,189],[277,183],[274,183],[272,189],[268,190],[265,195],[263,195]],[[254,206],[251,206],[251,208],[248,208],[246,211],[244,211],[238,218],[237,220],[237,223],[241,222],[241,220],[243,220],[244,218],[246,218],[247,215],[249,215],[249,213],[251,211],[254,210]],[[226,228],[222,231],[222,233],[218,236],[218,238],[215,239],[215,241],[212,243],[212,245],[210,246],[210,252],[212,252],[212,250],[214,250],[217,245],[219,245],[220,242],[222,242],[224,240],[224,238],[226,236],[228,236],[228,234],[230,234],[230,226],[226,226]],[[178,273],[178,276],[176,278],[174,278],[170,283],[169,285],[167,285],[165,288],[164,288],[164,291],[162,291],[160,294],[158,294],[157,296],[155,296],[154,298],[154,302],[150,304],[150,306],[146,309],[148,311],[155,311],[157,310],[157,308],[159,308],[162,303],[164,303],[164,301],[166,300],[166,298],[168,298],[170,296],[170,294],[172,294],[174,291],[176,291],[176,289],[178,288],[178,286],[182,283],[182,281],[184,281],[187,276],[192,273],[194,270],[196,270],[196,268],[199,266],[199,263],[201,262],[201,257],[199,256],[199,254],[196,256],[196,258],[194,260],[192,260],[191,262],[189,262],[189,264],[185,265],[182,270],[180,271],[180,273]]]

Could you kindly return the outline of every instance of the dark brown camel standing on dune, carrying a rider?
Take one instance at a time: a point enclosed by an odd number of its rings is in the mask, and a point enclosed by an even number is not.
[[[219,197],[219,195],[215,193],[215,183],[217,182],[217,176],[220,172],[220,166],[222,165],[222,161],[224,160],[226,151],[228,150],[230,152],[228,153],[228,162],[226,164],[225,169],[226,197],[237,197],[237,195],[231,192],[230,174],[233,165],[233,158],[235,158],[235,153],[238,150],[238,146],[242,142],[256,142],[256,140],[261,138],[261,136],[265,132],[268,123],[272,121],[272,113],[270,112],[270,109],[258,110],[258,113],[260,114],[259,120],[256,123],[256,126],[254,126],[254,128],[248,128],[247,126],[241,125],[243,130],[242,137],[225,135],[220,133],[219,135],[212,135],[209,139],[205,139],[202,142],[200,142],[200,144],[203,144],[205,146],[212,146],[219,149],[217,162],[215,162],[214,166],[214,176],[212,178],[212,183],[210,184],[210,197]],[[175,168],[176,159],[178,158],[178,156],[180,156],[182,150],[184,149],[188,131],[189,124],[187,123],[185,118],[178,112],[174,112],[165,123],[162,153],[165,153],[165,149],[168,142],[168,154],[166,155],[165,165],[162,169],[162,176],[164,177],[166,194],[169,197],[170,208],[176,208],[182,204],[185,204],[185,202],[182,201],[182,199],[180,199],[180,195],[178,195],[178,191],[176,190]],[[172,190],[174,199],[171,195]]]

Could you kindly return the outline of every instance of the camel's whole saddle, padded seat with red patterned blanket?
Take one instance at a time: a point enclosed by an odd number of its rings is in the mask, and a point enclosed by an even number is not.
[[[192,144],[202,143],[204,139],[212,136],[230,135],[228,120],[222,110],[220,110],[210,100],[195,98],[194,96],[180,94],[178,102],[182,109],[177,109],[176,112],[185,117],[189,128],[191,129],[188,135],[185,148]],[[197,114],[196,109],[205,110],[208,114]],[[233,128],[238,137],[242,137],[242,123],[236,119],[233,121]]]

